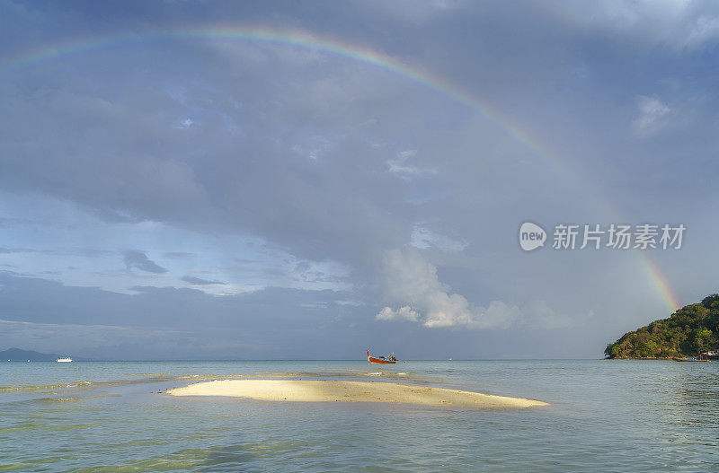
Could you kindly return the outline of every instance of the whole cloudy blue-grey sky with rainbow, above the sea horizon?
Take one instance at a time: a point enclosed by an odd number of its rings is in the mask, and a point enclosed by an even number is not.
[[[0,0],[0,349],[600,358],[719,291],[718,53],[715,2]]]

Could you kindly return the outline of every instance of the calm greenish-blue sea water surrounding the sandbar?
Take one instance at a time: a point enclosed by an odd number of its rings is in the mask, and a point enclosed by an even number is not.
[[[282,376],[258,372],[404,376],[552,405],[483,411],[159,392]],[[0,446],[0,471],[706,471],[719,469],[719,362],[4,363]]]

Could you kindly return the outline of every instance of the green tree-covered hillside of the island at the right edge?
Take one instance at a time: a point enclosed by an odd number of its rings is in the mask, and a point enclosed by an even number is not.
[[[689,304],[669,319],[627,332],[604,350],[608,358],[668,358],[697,355],[719,346],[719,294]]]

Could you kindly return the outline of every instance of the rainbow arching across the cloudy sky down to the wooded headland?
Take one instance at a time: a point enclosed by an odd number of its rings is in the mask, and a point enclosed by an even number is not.
[[[253,41],[280,46],[292,46],[318,51],[323,54],[344,57],[360,63],[375,66],[392,74],[398,74],[405,79],[422,85],[423,87],[447,96],[453,101],[460,102],[477,111],[481,116],[501,127],[506,133],[520,144],[526,146],[532,153],[537,154],[549,168],[564,180],[571,183],[586,182],[581,180],[572,166],[547,149],[545,145],[529,135],[521,127],[512,125],[510,118],[504,116],[502,111],[493,107],[487,101],[467,92],[456,84],[449,82],[439,74],[434,74],[418,66],[405,64],[399,58],[389,56],[377,50],[350,43],[342,39],[328,38],[303,30],[274,29],[257,26],[211,26],[197,29],[177,30],[148,30],[141,32],[121,33],[108,36],[75,39],[51,47],[35,48],[23,51],[20,55],[0,63],[0,74],[8,74],[24,67],[38,66],[42,63],[57,60],[63,57],[81,55],[111,47],[133,46],[146,44],[151,40],[164,39],[202,39],[202,40],[240,40]],[[608,215],[617,222],[623,219],[608,199],[596,199]],[[649,257],[646,251],[637,251],[647,274],[652,279],[662,299],[667,306],[675,311],[679,308],[679,298],[671,289],[669,280],[661,273],[660,268]]]

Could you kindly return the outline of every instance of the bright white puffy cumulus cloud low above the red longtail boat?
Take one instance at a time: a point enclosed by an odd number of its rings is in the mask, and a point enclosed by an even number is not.
[[[508,328],[519,319],[516,306],[493,301],[484,308],[451,293],[448,285],[439,282],[437,267],[416,250],[389,251],[382,273],[386,302],[400,308],[385,307],[377,313],[377,320],[411,320],[428,328]]]

